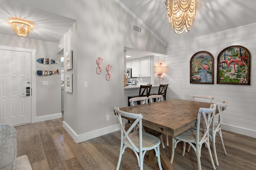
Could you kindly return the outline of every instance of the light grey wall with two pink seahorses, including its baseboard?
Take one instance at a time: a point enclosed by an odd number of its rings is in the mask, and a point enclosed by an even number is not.
[[[124,47],[155,53],[166,53],[166,47],[114,0],[15,1],[77,20],[73,30],[77,34],[67,33],[70,39],[64,42],[66,47],[76,46],[73,69],[68,71],[73,74],[73,93],[64,93],[64,128],[76,142],[118,130],[113,109],[124,105]],[[142,34],[133,32],[133,25],[141,27]],[[104,59],[101,74],[96,73],[98,57]],[[108,64],[112,65],[109,81]],[[83,88],[83,81],[88,88]]]

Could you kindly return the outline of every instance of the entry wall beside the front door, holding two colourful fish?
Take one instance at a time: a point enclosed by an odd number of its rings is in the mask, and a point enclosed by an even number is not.
[[[0,45],[20,47],[27,49],[36,49],[36,59],[41,57],[50,57],[52,59],[60,59],[60,55],[57,54],[57,43],[44,42],[40,40],[34,40],[18,36],[8,36],[0,34]],[[60,70],[60,65],[51,64],[44,65],[38,62],[32,63],[36,65],[37,70]],[[36,74],[32,73],[32,74]],[[47,86],[42,85],[42,81],[48,81]],[[51,76],[38,76],[36,75],[36,113],[32,114],[35,117],[32,118],[33,122],[45,121],[61,117],[61,91],[60,91],[60,75],[54,74]],[[33,95],[33,89],[32,89]]]

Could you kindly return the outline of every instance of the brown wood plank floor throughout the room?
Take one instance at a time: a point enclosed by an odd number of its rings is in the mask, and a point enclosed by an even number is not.
[[[120,152],[120,130],[76,144],[62,127],[63,119],[16,126],[17,156],[26,154],[33,170],[115,170]],[[256,138],[224,131],[222,132],[227,155],[220,139],[216,148],[220,166],[216,170],[256,169]],[[164,135],[165,136],[165,135]],[[171,154],[172,138],[164,151]],[[164,144],[166,144],[164,138]],[[177,170],[197,170],[194,150],[181,155],[182,144],[175,149],[173,166]],[[208,151],[202,148],[202,169],[212,169]],[[120,170],[139,169],[136,156],[126,148]],[[144,170],[152,170],[144,163]]]

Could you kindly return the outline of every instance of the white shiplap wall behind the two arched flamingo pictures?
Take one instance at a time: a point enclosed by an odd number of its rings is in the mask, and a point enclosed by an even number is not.
[[[216,84],[218,54],[231,45],[242,45],[251,53],[250,85]],[[214,84],[190,84],[190,58],[198,51],[214,56]],[[222,129],[256,138],[256,23],[168,45],[167,57],[160,57],[160,62],[166,66],[168,99],[202,94],[214,96],[214,103],[227,100]]]

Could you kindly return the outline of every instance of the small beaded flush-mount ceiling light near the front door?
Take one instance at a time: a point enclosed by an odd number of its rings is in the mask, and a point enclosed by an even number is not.
[[[27,36],[30,29],[33,27],[32,23],[18,18],[12,18],[9,22],[12,24],[13,30],[18,36]]]

